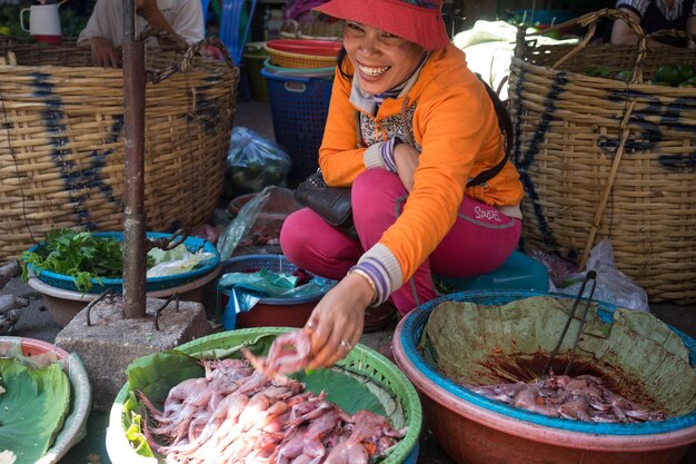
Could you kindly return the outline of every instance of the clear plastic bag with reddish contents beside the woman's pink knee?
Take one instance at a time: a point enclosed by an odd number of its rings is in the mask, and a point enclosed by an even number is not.
[[[220,234],[217,244],[220,259],[229,259],[238,247],[279,245],[282,221],[301,207],[292,190],[266,187],[239,209],[237,217]]]

